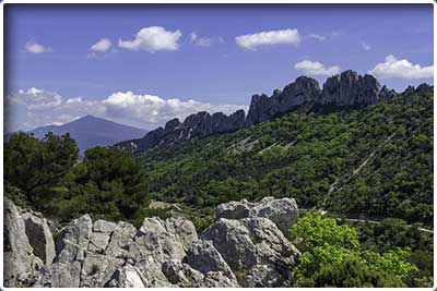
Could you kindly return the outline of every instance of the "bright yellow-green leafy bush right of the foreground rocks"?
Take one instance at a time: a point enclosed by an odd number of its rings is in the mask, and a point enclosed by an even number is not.
[[[366,250],[354,228],[318,211],[302,217],[291,235],[302,239],[303,255],[293,270],[297,287],[406,287],[417,271],[410,248]]]

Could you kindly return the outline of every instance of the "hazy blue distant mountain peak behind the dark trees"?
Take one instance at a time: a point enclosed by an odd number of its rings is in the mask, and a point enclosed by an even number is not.
[[[110,146],[126,140],[140,138],[147,131],[123,124],[119,124],[93,116],[85,116],[62,125],[48,125],[37,128],[29,133],[42,138],[48,132],[60,135],[70,133],[78,142],[81,155],[94,146]]]

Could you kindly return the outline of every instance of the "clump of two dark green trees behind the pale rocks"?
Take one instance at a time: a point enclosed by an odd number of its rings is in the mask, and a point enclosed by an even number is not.
[[[91,214],[139,225],[147,216],[144,170],[126,153],[95,147],[76,162],[75,142],[51,133],[42,141],[14,134],[4,150],[7,195],[19,205],[61,222]]]

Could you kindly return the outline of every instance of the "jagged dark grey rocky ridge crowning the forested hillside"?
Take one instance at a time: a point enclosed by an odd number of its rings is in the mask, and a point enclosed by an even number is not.
[[[362,76],[354,71],[344,71],[329,77],[322,88],[316,80],[299,76],[282,90],[274,90],[270,97],[265,94],[253,95],[247,116],[244,110],[231,116],[202,111],[187,117],[184,122],[178,119],[170,120],[165,128],[151,131],[140,140],[122,142],[115,146],[135,154],[156,145],[175,144],[192,137],[236,131],[293,111],[306,104],[357,107],[376,104],[391,98],[394,94],[394,90],[381,86],[374,76],[367,74]]]

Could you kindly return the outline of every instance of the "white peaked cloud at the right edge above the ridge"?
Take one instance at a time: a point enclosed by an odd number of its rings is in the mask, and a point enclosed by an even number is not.
[[[390,54],[386,57],[385,62],[378,63],[368,73],[381,78],[432,78],[434,65],[421,66],[406,59],[399,60]]]

